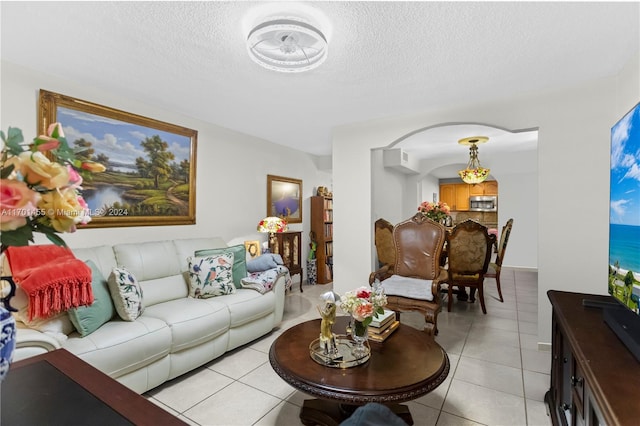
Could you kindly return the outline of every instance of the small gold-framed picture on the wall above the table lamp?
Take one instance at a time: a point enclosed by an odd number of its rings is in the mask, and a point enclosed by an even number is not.
[[[302,223],[302,180],[267,175],[267,216]]]

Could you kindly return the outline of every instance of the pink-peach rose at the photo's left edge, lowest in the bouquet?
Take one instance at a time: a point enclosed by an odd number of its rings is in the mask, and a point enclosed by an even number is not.
[[[37,213],[40,194],[17,180],[2,179],[0,185],[0,230],[13,231],[27,224]]]

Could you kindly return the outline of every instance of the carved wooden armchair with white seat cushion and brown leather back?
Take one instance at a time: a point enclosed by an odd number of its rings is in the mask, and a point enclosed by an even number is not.
[[[422,213],[393,227],[395,263],[384,265],[369,276],[375,279],[387,295],[387,309],[401,312],[417,311],[424,315],[424,331],[438,334],[440,298],[440,254],[445,242],[445,228]]]

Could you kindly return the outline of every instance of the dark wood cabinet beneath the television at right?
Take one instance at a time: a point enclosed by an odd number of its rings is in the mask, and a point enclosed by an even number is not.
[[[545,395],[557,425],[632,425],[640,422],[640,364],[582,301],[610,296],[550,290],[553,306],[551,388]]]

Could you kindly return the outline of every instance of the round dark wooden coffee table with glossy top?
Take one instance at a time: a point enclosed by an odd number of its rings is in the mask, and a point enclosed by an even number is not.
[[[336,318],[333,331],[344,334],[349,318]],[[317,397],[305,400],[300,420],[305,425],[339,425],[353,410],[368,402],[387,405],[407,424],[413,419],[410,401],[435,389],[449,374],[449,357],[431,336],[407,325],[382,343],[369,341],[370,359],[351,368],[318,364],[309,354],[320,334],[320,320],[298,324],[271,345],[269,361],[275,372],[294,388]]]

